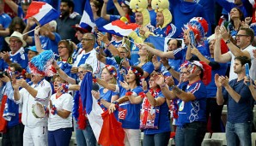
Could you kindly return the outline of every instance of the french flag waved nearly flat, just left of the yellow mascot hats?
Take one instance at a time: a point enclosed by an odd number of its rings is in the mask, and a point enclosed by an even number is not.
[[[118,35],[120,37],[128,36],[133,32],[139,25],[135,23],[126,24],[122,20],[114,20],[113,22],[99,28],[101,32],[108,32],[111,34]]]

